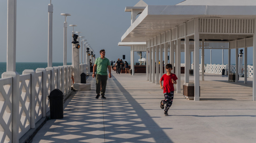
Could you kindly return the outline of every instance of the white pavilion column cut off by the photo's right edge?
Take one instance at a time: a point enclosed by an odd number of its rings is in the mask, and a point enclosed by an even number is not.
[[[253,36],[253,69],[255,64],[256,64],[256,19],[254,19],[254,36]],[[256,86],[255,86],[255,81],[256,81],[256,75],[255,70],[253,70],[253,101],[256,101]]]

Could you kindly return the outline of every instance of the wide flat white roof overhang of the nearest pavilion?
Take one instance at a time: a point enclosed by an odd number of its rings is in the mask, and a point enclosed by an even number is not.
[[[256,6],[147,6],[121,37],[142,42],[196,17],[256,18]]]

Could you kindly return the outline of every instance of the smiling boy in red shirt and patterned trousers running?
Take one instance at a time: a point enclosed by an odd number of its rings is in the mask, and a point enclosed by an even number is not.
[[[161,101],[160,107],[164,109],[164,106],[166,104],[164,115],[168,116],[168,110],[171,107],[172,101],[173,101],[173,93],[174,93],[173,84],[177,84],[176,80],[178,78],[175,74],[171,73],[171,70],[172,70],[171,64],[166,64],[165,70],[167,71],[167,74],[164,74],[159,81],[161,89],[164,89],[164,96],[165,96],[165,100]],[[162,86],[162,81],[164,81],[164,86]]]

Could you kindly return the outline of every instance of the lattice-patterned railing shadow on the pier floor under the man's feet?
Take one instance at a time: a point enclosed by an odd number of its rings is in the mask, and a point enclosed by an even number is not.
[[[51,119],[33,142],[172,142],[140,103],[116,80],[107,80],[107,99],[95,99],[95,79],[90,91],[77,92],[64,105],[64,118]]]

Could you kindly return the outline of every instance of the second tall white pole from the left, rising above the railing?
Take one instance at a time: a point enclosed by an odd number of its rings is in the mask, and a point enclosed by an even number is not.
[[[48,67],[52,67],[52,13],[53,5],[48,4]]]

